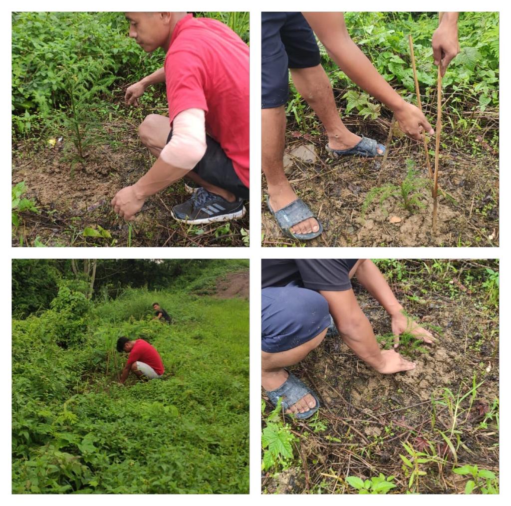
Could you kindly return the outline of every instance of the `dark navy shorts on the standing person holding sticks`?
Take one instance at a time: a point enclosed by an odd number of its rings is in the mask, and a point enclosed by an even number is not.
[[[269,109],[287,102],[288,69],[315,67],[321,57],[301,12],[262,12],[261,21],[261,98]]]

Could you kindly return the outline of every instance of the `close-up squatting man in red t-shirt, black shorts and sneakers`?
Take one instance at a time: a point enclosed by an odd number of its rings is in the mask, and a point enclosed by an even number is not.
[[[172,208],[177,221],[204,224],[245,215],[249,191],[248,46],[220,21],[186,12],[126,12],[129,36],[150,53],[166,52],[162,68],[126,90],[138,105],[151,84],[165,82],[169,116],[150,114],[138,135],[154,165],[112,200],[126,220],[145,200],[182,177],[197,187]]]

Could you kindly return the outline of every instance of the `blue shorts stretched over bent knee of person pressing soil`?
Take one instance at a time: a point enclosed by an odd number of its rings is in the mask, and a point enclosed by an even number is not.
[[[261,348],[267,353],[291,350],[310,341],[332,320],[320,293],[297,286],[263,288],[261,292]]]

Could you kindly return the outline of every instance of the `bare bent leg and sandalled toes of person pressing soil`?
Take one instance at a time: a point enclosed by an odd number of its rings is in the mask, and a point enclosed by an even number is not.
[[[317,348],[328,329],[324,329],[316,337],[300,346],[280,353],[261,352],[261,384],[265,390],[275,390],[286,382],[288,373],[284,367],[297,364],[303,360],[314,348]],[[289,412],[304,413],[316,405],[316,400],[311,394],[307,394],[293,404]]]

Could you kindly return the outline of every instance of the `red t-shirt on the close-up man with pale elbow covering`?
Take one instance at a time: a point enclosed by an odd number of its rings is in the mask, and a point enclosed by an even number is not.
[[[220,21],[179,20],[165,57],[170,123],[186,109],[205,112],[206,132],[232,160],[248,188],[248,46]]]

